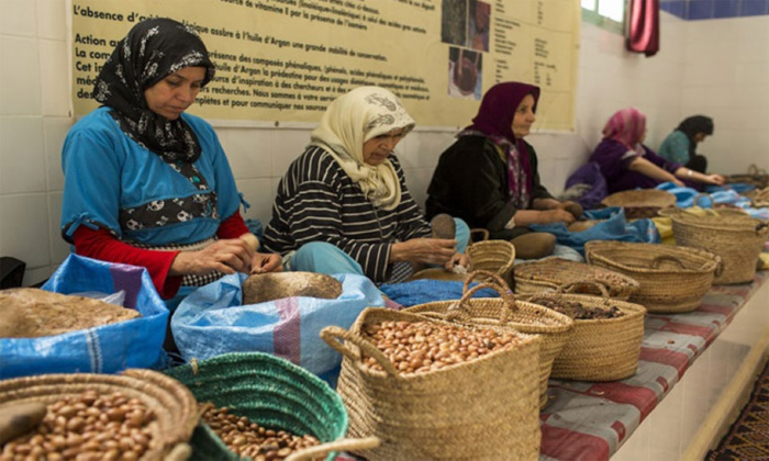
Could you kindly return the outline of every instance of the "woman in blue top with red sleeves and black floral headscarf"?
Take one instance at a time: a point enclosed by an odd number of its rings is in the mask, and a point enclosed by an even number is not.
[[[64,238],[78,255],[147,268],[170,308],[225,273],[281,270],[278,255],[256,251],[213,128],[185,113],[213,75],[191,29],[136,24],[99,72],[103,105],[62,153]]]

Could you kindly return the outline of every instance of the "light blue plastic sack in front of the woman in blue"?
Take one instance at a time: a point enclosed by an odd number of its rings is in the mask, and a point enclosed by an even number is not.
[[[330,325],[349,328],[364,308],[384,306],[381,292],[366,277],[332,277],[342,282],[342,294],[333,300],[292,296],[242,305],[243,273],[201,286],[171,317],[179,352],[186,361],[227,352],[266,352],[328,379],[342,356],[321,339],[321,330]]]

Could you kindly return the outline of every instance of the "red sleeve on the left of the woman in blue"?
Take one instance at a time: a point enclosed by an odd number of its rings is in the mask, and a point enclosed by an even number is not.
[[[243,222],[243,218],[241,218],[241,222]],[[80,256],[146,268],[149,277],[153,279],[155,289],[164,300],[174,297],[179,291],[181,277],[168,274],[174,258],[179,251],[136,248],[118,240],[107,229],[93,231],[87,226],[79,226],[75,231],[73,238],[75,240],[75,252]]]

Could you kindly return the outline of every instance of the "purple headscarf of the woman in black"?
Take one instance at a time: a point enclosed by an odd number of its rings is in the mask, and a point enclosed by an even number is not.
[[[532,193],[532,167],[528,151],[522,139],[513,134],[513,117],[521,101],[531,94],[534,97],[534,112],[539,101],[539,87],[510,81],[497,83],[483,95],[478,115],[464,134],[482,133],[500,146],[508,158],[508,189],[512,201],[519,209],[527,209]]]

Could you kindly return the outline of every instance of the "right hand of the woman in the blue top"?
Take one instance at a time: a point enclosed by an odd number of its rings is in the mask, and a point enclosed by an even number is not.
[[[239,238],[216,240],[202,250],[180,251],[169,270],[170,276],[193,273],[204,276],[213,271],[222,273],[249,273],[254,250]]]

